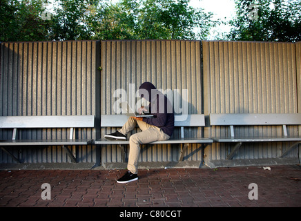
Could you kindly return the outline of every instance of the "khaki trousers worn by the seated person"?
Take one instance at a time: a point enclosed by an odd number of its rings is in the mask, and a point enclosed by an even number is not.
[[[169,139],[169,136],[157,126],[146,124],[146,122],[137,120],[134,117],[129,117],[128,121],[119,132],[126,135],[128,132],[132,131],[137,124],[142,132],[130,136],[130,153],[128,155],[128,170],[134,174],[138,173],[137,166],[140,154],[140,144],[148,144],[158,140]]]

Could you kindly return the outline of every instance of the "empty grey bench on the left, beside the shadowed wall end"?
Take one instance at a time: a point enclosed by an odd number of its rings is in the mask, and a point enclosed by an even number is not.
[[[77,139],[75,128],[93,128],[94,115],[73,116],[9,116],[0,117],[0,128],[12,128],[12,140],[1,140],[1,149],[10,155],[13,160],[20,162],[17,157],[8,151],[10,146],[61,146],[66,151],[72,162],[77,162],[68,146],[88,145],[93,139]],[[69,139],[65,140],[17,140],[17,129],[19,128],[70,128]]]

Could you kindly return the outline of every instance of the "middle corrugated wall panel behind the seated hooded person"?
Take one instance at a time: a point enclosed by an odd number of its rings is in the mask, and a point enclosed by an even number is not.
[[[135,104],[135,92],[144,82],[158,89],[188,90],[188,113],[202,113],[202,69],[200,41],[101,41],[101,115],[115,114],[113,106],[126,91],[129,102]],[[182,102],[182,101],[181,101]],[[182,104],[182,103],[181,103]],[[117,128],[102,129],[101,136]],[[202,135],[200,128],[188,128],[186,135]],[[175,136],[179,131],[175,131]],[[201,160],[200,148],[188,148],[184,160]],[[164,162],[179,159],[178,145],[148,145],[142,148],[140,161]],[[106,146],[101,162],[120,162],[117,146]]]

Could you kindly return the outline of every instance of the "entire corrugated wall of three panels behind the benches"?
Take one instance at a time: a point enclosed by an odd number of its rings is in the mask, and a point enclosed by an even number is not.
[[[98,139],[116,128],[99,130],[100,115],[114,114],[113,106],[126,91],[133,102],[144,81],[188,97],[188,114],[300,113],[301,42],[232,41],[63,41],[1,44],[0,115],[95,115],[93,130],[79,137]],[[203,62],[202,62],[203,60]],[[99,71],[100,69],[101,71]],[[298,89],[299,88],[299,89]],[[135,97],[135,96],[134,96]],[[184,98],[185,99],[185,98]],[[177,102],[177,101],[173,101]],[[299,131],[299,132],[298,132]],[[10,139],[11,130],[0,131]],[[227,128],[187,128],[188,136],[226,135]],[[236,134],[282,134],[282,127],[240,127]],[[290,134],[301,128],[289,127]],[[23,130],[22,139],[66,137],[66,130]],[[179,131],[175,131],[175,136]],[[244,144],[234,159],[279,157],[289,144]],[[202,151],[190,146],[184,160],[202,160]],[[206,147],[206,160],[224,160],[228,144]],[[117,146],[99,153],[95,146],[73,147],[79,162],[120,162]],[[13,148],[24,162],[70,162],[60,147]],[[147,145],[140,161],[177,161],[180,146]],[[299,151],[300,152],[300,151]],[[286,157],[296,157],[298,148]],[[101,159],[100,159],[101,158]],[[0,162],[13,162],[0,151]]]

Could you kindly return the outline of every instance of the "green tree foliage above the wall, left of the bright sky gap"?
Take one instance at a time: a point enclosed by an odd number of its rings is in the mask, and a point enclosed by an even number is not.
[[[189,0],[56,2],[54,15],[45,20],[46,0],[1,1],[0,41],[204,39],[217,25],[212,13],[189,7]]]

